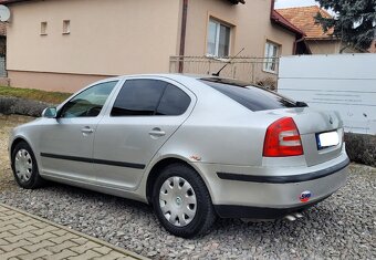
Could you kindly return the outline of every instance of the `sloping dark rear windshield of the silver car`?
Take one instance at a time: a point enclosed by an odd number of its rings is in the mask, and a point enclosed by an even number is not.
[[[200,79],[199,81],[254,112],[296,107],[294,101],[249,83],[219,77]]]

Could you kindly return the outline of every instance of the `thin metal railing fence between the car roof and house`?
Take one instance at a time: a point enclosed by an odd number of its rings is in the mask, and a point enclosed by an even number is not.
[[[169,72],[212,75],[224,65],[227,66],[221,71],[221,76],[250,82],[272,90],[276,89],[278,58],[239,56],[234,59],[215,59],[208,56],[170,56]],[[268,69],[270,72],[267,72]]]

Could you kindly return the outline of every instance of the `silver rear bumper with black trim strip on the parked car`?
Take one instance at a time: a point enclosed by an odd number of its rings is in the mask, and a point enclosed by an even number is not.
[[[312,207],[331,196],[345,185],[348,164],[343,153],[313,167],[196,166],[220,217],[273,219]],[[304,193],[311,194],[307,201],[301,200]]]

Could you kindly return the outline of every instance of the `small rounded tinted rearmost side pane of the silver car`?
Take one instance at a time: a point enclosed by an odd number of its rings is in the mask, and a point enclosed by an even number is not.
[[[190,97],[180,89],[167,84],[165,93],[160,98],[157,115],[181,115],[190,104]]]

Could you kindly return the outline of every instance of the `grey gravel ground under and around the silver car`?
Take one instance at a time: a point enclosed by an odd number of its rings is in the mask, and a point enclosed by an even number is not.
[[[143,204],[51,184],[22,190],[12,180],[6,143],[25,117],[0,116],[0,202],[155,259],[376,259],[376,168],[351,165],[347,185],[295,221],[217,221],[198,239],[168,235]]]

